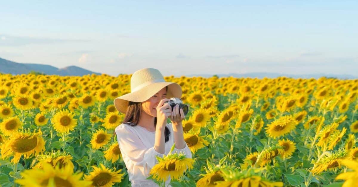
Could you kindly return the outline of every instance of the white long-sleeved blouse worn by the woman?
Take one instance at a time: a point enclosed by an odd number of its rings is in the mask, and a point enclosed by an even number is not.
[[[170,151],[174,144],[173,126],[171,123],[166,124],[170,130],[169,141],[165,142],[165,155]],[[164,154],[160,154],[154,149],[155,131],[149,131],[146,128],[136,125],[130,126],[122,123],[115,130],[117,134],[118,145],[121,150],[122,158],[126,164],[129,181],[132,187],[139,186],[159,186],[152,180],[147,180],[151,168],[158,163],[155,156],[163,158]],[[192,152],[187,144],[184,149],[174,149],[173,153],[184,152],[187,158],[192,158]],[[171,177],[165,181],[165,186],[169,185]],[[170,187],[170,185],[169,185]]]

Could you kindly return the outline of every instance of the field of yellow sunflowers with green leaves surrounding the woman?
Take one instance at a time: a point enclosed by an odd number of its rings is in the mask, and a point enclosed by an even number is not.
[[[113,105],[130,78],[0,74],[0,186],[130,186]],[[358,80],[165,80],[190,105],[193,157],[158,157],[148,178],[159,185],[169,175],[173,187],[356,185]]]

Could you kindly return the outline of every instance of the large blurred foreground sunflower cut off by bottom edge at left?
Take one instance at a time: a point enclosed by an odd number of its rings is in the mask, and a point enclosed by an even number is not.
[[[83,173],[74,174],[73,168],[52,167],[50,163],[43,162],[43,167],[24,170],[21,172],[21,179],[16,179],[15,182],[24,187],[44,187],[44,186],[81,186],[88,187],[91,182],[81,181]]]

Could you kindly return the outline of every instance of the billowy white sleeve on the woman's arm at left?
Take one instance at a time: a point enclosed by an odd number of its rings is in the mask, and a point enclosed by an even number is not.
[[[130,128],[120,126],[116,128],[116,134],[121,152],[129,157],[130,166],[127,167],[143,167],[144,173],[149,175],[151,168],[158,163],[155,156],[163,158],[163,154],[157,152],[154,147],[148,149]]]

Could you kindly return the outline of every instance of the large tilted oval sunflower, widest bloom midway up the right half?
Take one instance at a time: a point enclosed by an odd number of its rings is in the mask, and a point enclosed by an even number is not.
[[[296,127],[296,120],[291,115],[282,116],[271,124],[267,125],[266,133],[270,137],[280,137],[290,133]]]

